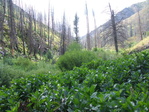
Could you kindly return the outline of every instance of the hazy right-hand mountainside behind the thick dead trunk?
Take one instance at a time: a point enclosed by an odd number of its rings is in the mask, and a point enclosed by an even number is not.
[[[123,9],[122,11],[118,12],[115,15],[115,23],[117,25],[117,36],[118,36],[119,47],[124,48],[128,46],[126,45],[125,41],[129,37],[138,36],[139,38],[139,34],[137,31],[138,30],[138,24],[137,24],[138,11],[140,12],[141,22],[143,20],[143,23],[141,24],[142,28],[143,27],[146,28],[143,32],[147,33],[147,31],[149,31],[148,19],[147,19],[147,16],[144,16],[144,15],[148,15],[148,11],[149,11],[147,8],[146,2],[133,4],[132,6]],[[112,38],[111,20],[107,21],[105,24],[99,26],[97,29],[90,32],[92,47],[94,47],[95,32],[97,32],[98,34],[97,35],[98,47],[111,48],[112,46],[114,46],[114,40]],[[86,41],[86,36],[82,37],[82,41]]]

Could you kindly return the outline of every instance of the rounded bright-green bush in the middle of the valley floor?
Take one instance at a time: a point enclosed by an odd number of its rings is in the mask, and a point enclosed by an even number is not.
[[[97,59],[94,52],[71,51],[61,56],[57,61],[57,65],[62,71],[72,70],[74,67],[80,67],[83,63],[88,63],[94,59]]]

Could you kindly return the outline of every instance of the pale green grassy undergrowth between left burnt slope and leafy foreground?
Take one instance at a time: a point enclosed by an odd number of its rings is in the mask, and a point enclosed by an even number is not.
[[[45,61],[32,61],[28,58],[4,57],[0,60],[0,86],[10,86],[12,79],[26,77],[28,75],[59,73],[60,70]]]

